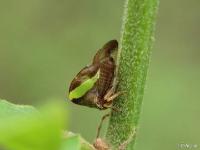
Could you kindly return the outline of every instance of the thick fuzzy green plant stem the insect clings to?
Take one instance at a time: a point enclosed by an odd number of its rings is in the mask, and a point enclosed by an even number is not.
[[[114,149],[133,149],[153,43],[159,0],[126,0],[118,54],[117,91],[106,139]]]

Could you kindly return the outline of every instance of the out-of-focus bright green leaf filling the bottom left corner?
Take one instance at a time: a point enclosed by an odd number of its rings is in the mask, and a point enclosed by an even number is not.
[[[58,150],[66,116],[63,105],[41,109],[0,100],[0,147],[6,150]]]

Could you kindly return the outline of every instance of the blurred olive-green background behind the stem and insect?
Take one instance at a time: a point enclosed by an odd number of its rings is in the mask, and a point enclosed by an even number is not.
[[[123,6],[122,0],[1,0],[0,97],[35,106],[66,101],[69,130],[93,141],[106,112],[72,104],[66,95],[96,50],[119,40]],[[176,150],[181,143],[200,149],[199,6],[160,3],[137,150]]]

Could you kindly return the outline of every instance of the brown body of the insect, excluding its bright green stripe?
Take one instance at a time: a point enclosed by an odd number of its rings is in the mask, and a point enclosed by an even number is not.
[[[113,86],[116,65],[112,53],[117,47],[118,42],[116,40],[106,43],[103,48],[97,51],[92,64],[83,68],[76,75],[71,82],[69,91],[72,91],[83,81],[93,77],[99,71],[99,78],[95,85],[82,97],[73,99],[72,102],[98,109],[106,109],[112,104],[112,101],[105,99],[105,95]]]

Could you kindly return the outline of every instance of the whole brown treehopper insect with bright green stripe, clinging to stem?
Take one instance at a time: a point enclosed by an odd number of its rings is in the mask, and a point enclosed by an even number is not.
[[[69,99],[78,105],[104,110],[112,108],[113,100],[121,93],[114,91],[116,63],[113,54],[117,40],[107,42],[95,54],[92,64],[84,67],[72,80]]]

